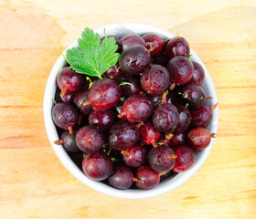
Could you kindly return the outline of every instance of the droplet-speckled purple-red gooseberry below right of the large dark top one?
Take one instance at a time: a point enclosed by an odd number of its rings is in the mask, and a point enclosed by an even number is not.
[[[165,67],[152,65],[144,69],[141,77],[141,86],[149,95],[161,95],[168,89],[170,74]]]

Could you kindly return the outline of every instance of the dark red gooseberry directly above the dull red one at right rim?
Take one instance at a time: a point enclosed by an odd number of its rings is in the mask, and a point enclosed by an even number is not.
[[[207,127],[212,119],[212,111],[210,107],[202,105],[197,109],[191,110],[191,125],[193,127]]]

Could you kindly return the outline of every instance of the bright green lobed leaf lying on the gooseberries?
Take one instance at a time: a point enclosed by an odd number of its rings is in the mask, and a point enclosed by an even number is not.
[[[78,43],[80,48],[72,47],[67,50],[67,59],[70,68],[80,74],[101,78],[120,57],[116,53],[118,46],[114,37],[105,37],[101,42],[99,34],[88,27],[81,33]]]

